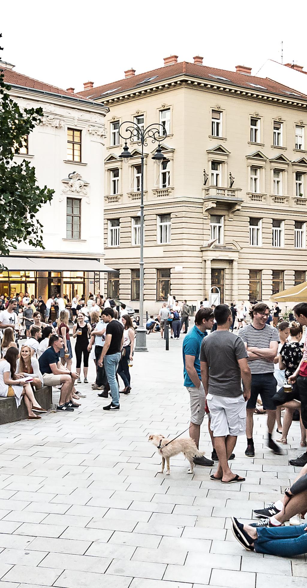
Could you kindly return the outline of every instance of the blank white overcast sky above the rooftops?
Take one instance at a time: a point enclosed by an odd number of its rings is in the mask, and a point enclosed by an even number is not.
[[[306,0],[15,0],[2,2],[3,61],[60,88],[83,89],[202,55],[203,64],[257,72],[267,59],[307,69]],[[293,10],[291,8],[293,6]]]

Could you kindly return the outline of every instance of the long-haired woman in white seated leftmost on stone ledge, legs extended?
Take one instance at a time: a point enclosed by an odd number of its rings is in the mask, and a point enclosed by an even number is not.
[[[39,405],[25,378],[16,373],[17,358],[18,349],[10,347],[5,354],[5,359],[0,361],[0,396],[15,396],[17,407],[21,405],[22,397],[24,397],[28,420],[41,419],[42,417],[35,415],[35,412],[47,412],[47,410]]]

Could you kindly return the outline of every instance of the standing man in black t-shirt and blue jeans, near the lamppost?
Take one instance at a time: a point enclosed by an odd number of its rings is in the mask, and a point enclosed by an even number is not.
[[[104,363],[112,395],[111,404],[104,406],[103,410],[119,410],[120,389],[115,374],[121,359],[122,344],[124,343],[124,325],[114,319],[114,310],[112,308],[104,309],[101,318],[107,323],[107,329],[105,330],[103,351],[98,359],[98,367],[101,368]]]

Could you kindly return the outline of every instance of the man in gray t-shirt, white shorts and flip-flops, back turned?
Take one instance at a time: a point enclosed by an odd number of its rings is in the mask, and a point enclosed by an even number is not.
[[[229,332],[232,324],[229,306],[216,306],[214,319],[217,330],[203,339],[200,348],[200,371],[210,410],[214,447],[219,457],[217,471],[210,477],[230,484],[245,480],[233,475],[228,458],[236,445],[237,436],[245,434],[245,402],[250,397],[251,372],[243,341]]]

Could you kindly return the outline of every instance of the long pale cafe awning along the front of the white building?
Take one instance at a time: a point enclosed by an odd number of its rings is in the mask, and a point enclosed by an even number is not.
[[[0,265],[10,272],[114,272],[97,259],[1,257]]]

